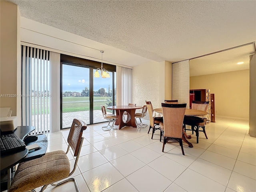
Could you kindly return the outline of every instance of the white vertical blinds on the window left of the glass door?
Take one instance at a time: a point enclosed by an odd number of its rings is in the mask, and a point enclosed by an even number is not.
[[[22,125],[34,126],[33,134],[50,127],[49,51],[22,46]]]

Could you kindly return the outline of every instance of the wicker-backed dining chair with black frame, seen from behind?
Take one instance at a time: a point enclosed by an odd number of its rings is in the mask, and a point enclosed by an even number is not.
[[[163,122],[160,122],[160,128],[164,133],[164,141],[162,152],[164,152],[164,146],[170,139],[177,140],[180,143],[182,154],[184,154],[182,144],[182,125],[186,110],[185,104],[167,104],[162,103],[163,110]]]

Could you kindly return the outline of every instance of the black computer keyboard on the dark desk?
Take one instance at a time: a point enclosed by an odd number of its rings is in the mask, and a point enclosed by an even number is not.
[[[1,154],[22,151],[26,148],[25,143],[15,134],[1,135]]]

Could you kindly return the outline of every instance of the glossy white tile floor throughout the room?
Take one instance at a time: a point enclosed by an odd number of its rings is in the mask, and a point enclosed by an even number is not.
[[[148,123],[148,122],[147,122]],[[162,152],[159,131],[151,139],[146,128],[124,127],[103,131],[88,126],[74,176],[81,192],[255,192],[256,138],[248,135],[248,121],[217,118],[184,143],[168,142]],[[48,152],[66,150],[69,130],[48,134]],[[188,132],[188,134],[190,134]],[[74,157],[69,153],[70,164]],[[75,191],[69,182],[48,187],[55,192]]]

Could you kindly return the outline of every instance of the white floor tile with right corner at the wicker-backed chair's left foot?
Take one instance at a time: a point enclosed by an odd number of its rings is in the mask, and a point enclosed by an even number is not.
[[[146,147],[135,150],[131,154],[146,164],[161,156],[161,154]]]

